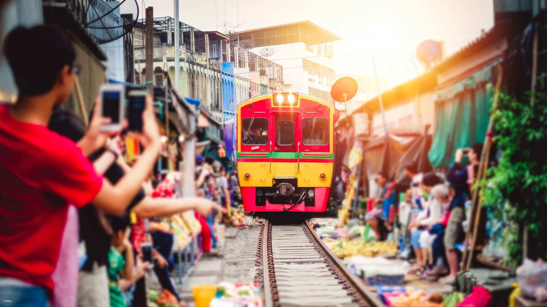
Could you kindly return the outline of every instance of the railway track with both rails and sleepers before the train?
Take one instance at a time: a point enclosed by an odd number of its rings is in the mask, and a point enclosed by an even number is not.
[[[255,282],[273,306],[383,306],[307,222],[260,228]]]

